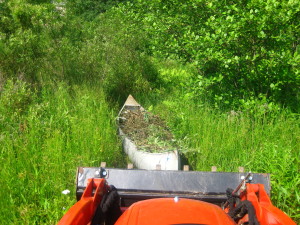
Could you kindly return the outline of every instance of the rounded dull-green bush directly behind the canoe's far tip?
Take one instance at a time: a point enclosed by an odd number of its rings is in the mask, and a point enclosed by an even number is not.
[[[70,74],[75,78],[78,72],[79,80],[98,83],[114,99],[149,91],[158,74],[149,57],[139,51],[144,48],[143,34],[128,29],[130,22],[120,17],[118,11],[106,13],[85,27],[87,38]]]

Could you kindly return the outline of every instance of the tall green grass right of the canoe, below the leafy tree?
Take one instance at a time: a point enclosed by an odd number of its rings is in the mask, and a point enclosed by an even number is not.
[[[271,173],[273,204],[299,220],[299,119],[222,114],[208,107],[162,104],[164,114],[194,170]],[[169,110],[166,110],[169,108]],[[171,116],[170,116],[171,115]]]

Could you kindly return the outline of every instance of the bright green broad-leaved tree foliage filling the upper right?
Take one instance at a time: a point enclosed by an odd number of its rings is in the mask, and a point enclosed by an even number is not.
[[[196,98],[205,90],[212,102],[238,105],[241,99],[266,98],[298,110],[299,1],[137,0],[128,5],[148,35],[149,52],[198,69],[189,85]]]

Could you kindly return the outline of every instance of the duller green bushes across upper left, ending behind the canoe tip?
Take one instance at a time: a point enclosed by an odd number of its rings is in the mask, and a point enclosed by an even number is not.
[[[80,1],[3,2],[2,76],[22,78],[38,86],[47,80],[89,82],[116,99],[150,90],[157,71],[139,51],[144,48],[142,32],[129,31],[131,21],[122,19],[118,12],[100,13],[117,2],[90,2],[102,11],[83,10],[87,2]]]

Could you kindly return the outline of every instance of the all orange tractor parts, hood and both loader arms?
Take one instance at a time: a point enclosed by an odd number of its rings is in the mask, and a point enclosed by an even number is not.
[[[69,209],[58,224],[90,224],[103,195],[108,192],[108,187],[105,179],[89,179],[80,201]],[[240,199],[253,204],[260,225],[296,225],[284,212],[273,206],[262,184],[246,184]],[[236,225],[226,210],[214,204],[191,199],[177,197],[150,199],[136,202],[127,209],[122,207],[124,213],[116,225]],[[246,215],[238,224],[247,221]]]

